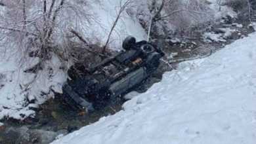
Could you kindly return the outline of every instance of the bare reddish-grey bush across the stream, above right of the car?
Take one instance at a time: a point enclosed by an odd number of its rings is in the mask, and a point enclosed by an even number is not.
[[[156,0],[152,0],[156,1]],[[154,2],[152,3],[154,4]],[[163,11],[164,10],[164,11]],[[152,11],[151,27],[159,27],[163,22],[176,26],[178,31],[188,31],[196,23],[209,20],[211,13],[202,0],[175,1],[161,0]],[[156,26],[158,25],[158,26]],[[152,31],[152,30],[151,30]],[[153,32],[158,32],[154,29]]]

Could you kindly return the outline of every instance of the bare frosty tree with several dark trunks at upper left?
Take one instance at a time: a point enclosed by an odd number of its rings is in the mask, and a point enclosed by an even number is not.
[[[5,4],[0,15],[3,37],[20,46],[24,56],[33,50],[41,60],[50,58],[52,52],[66,51],[60,41],[66,43],[70,28],[79,31],[81,26],[77,23],[81,20],[95,20],[87,0],[3,0],[2,3]]]

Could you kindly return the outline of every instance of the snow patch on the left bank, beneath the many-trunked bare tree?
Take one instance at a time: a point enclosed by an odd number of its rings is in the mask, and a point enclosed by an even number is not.
[[[37,75],[24,71],[35,66],[39,59],[24,61],[22,65],[19,63],[20,53],[15,48],[0,53],[0,119],[33,117],[35,111],[30,108],[53,98],[51,89],[60,92],[66,81],[66,73],[59,69],[61,63],[54,56]]]

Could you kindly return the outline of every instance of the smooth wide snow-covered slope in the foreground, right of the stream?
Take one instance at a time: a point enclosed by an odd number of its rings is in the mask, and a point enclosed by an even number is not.
[[[123,111],[53,143],[255,143],[255,39],[180,63]]]

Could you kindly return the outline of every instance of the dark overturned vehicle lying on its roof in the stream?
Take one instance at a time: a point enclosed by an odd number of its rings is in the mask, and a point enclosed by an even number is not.
[[[157,46],[147,41],[136,42],[131,36],[123,41],[122,46],[125,50],[89,69],[70,67],[70,78],[62,86],[62,98],[68,105],[85,111],[99,109],[150,76],[164,55]],[[83,73],[81,77],[77,77],[77,69]]]

